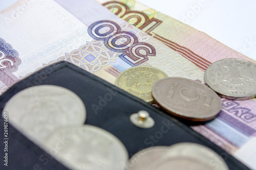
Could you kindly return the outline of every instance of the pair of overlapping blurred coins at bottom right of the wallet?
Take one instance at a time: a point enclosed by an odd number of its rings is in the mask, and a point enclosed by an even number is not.
[[[139,151],[128,161],[127,170],[228,170],[223,158],[197,143],[177,143],[150,147]]]

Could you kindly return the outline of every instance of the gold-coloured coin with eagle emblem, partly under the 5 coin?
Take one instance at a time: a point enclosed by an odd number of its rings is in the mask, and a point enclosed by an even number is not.
[[[152,86],[160,79],[168,77],[163,71],[155,67],[136,66],[121,72],[115,85],[135,96],[152,103]]]

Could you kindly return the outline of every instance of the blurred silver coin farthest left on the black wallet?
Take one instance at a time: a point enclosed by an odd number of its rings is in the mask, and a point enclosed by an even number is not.
[[[56,128],[82,125],[86,108],[82,100],[67,88],[40,85],[15,94],[4,107],[9,123],[40,144]]]

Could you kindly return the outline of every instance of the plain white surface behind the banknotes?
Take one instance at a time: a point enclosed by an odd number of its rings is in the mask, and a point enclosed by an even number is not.
[[[0,11],[17,0],[0,0]],[[72,1],[72,0],[69,0]],[[137,0],[256,60],[255,0]]]

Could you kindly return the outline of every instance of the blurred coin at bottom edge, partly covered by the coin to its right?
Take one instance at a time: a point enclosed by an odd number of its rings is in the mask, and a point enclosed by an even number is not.
[[[169,147],[157,146],[143,149],[134,154],[128,161],[127,170],[150,169],[153,162],[158,161],[167,151]]]

